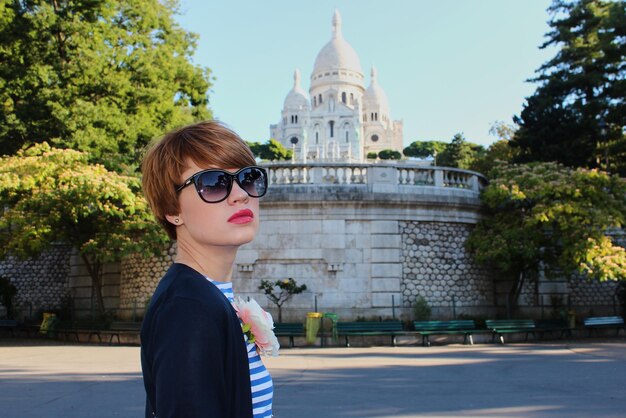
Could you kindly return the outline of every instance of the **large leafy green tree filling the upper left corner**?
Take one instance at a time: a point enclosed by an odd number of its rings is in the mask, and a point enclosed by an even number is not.
[[[135,165],[164,130],[210,117],[210,71],[176,0],[0,3],[0,155],[38,142]]]

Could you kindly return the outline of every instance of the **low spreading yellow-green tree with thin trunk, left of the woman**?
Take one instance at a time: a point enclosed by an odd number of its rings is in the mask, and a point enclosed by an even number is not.
[[[47,143],[0,158],[0,257],[24,258],[63,242],[78,249],[104,314],[102,266],[126,254],[156,255],[167,236],[137,176],[88,163],[86,153]]]

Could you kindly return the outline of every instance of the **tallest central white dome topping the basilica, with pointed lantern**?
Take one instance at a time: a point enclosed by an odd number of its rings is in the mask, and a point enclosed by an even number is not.
[[[313,66],[313,74],[339,68],[360,74],[363,73],[359,56],[354,48],[343,39],[341,16],[335,10],[335,15],[333,16],[333,37],[317,54],[315,65]]]

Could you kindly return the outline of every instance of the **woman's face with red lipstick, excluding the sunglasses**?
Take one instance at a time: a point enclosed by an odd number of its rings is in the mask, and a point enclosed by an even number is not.
[[[219,168],[234,173],[240,167],[198,167],[188,160],[181,183],[207,168]],[[188,237],[194,244],[204,247],[238,247],[252,241],[259,229],[259,199],[248,196],[235,181],[230,194],[221,202],[204,202],[193,184],[180,191],[178,200],[178,238]],[[181,228],[185,231],[181,231]]]

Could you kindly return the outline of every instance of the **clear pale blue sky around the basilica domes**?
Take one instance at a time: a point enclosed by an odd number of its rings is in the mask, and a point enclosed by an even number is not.
[[[525,80],[555,54],[540,50],[550,0],[181,0],[180,24],[200,35],[194,62],[213,71],[216,118],[265,142],[296,68],[308,91],[337,9],[369,85],[370,68],[391,117],[415,140],[489,145],[494,121],[511,123],[535,85]]]

